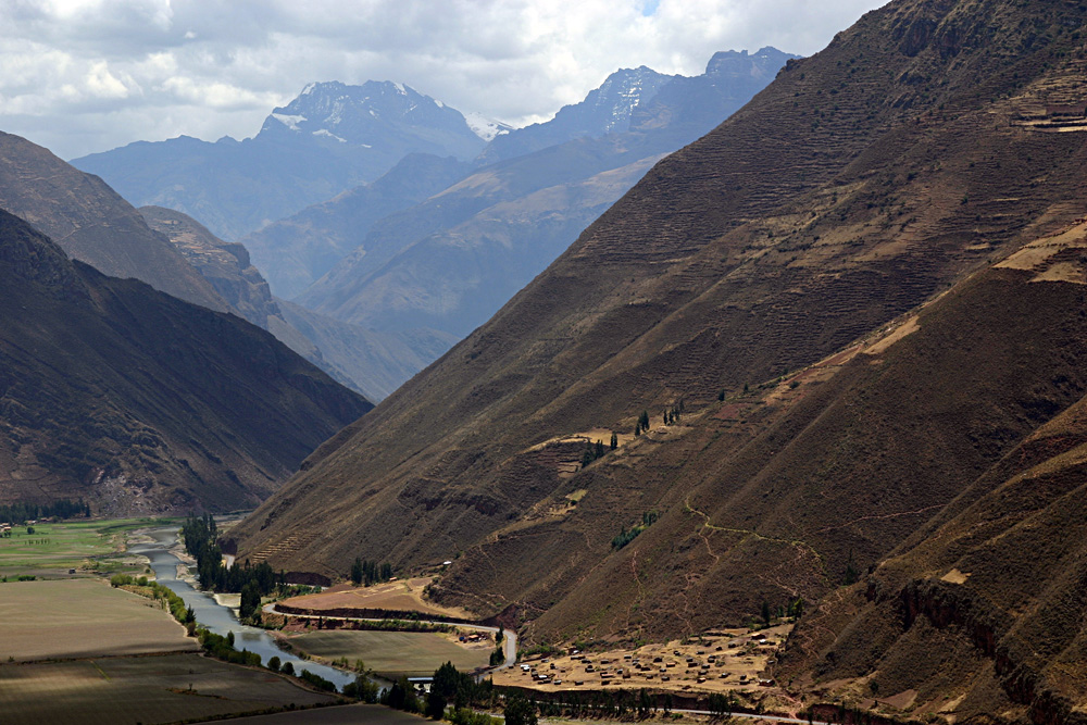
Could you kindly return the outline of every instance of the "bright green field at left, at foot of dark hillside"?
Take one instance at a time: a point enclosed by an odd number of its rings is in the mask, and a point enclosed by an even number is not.
[[[91,571],[140,574],[142,565],[120,551],[125,534],[162,520],[115,518],[35,524],[34,534],[25,526],[12,529],[11,538],[0,538],[0,579],[18,575],[55,578]]]

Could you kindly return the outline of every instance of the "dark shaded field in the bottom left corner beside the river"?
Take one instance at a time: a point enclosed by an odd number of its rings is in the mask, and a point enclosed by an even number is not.
[[[13,723],[170,723],[335,701],[198,654],[0,664],[0,712]]]

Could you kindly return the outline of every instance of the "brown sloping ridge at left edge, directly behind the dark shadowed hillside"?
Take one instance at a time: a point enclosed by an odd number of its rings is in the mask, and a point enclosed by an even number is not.
[[[100,178],[4,133],[0,209],[26,220],[70,257],[104,274],[135,277],[183,300],[226,310],[212,286]]]

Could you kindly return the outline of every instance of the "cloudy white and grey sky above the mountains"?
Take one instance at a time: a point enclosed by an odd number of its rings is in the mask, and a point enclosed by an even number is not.
[[[245,138],[310,82],[396,80],[521,126],[620,67],[801,55],[882,0],[0,0],[0,130],[63,159]]]

